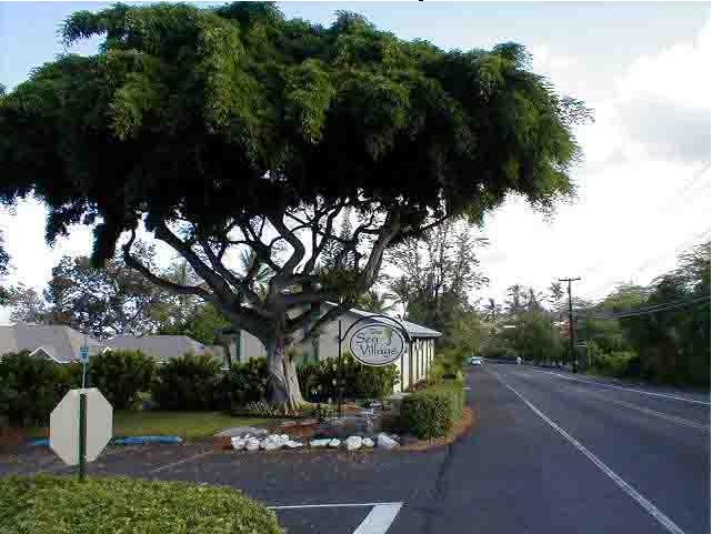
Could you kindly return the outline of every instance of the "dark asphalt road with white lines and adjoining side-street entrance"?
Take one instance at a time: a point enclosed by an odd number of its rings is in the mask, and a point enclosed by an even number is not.
[[[440,451],[169,445],[90,473],[238,487],[277,506],[290,534],[710,532],[709,396],[505,364],[468,384],[475,426]]]

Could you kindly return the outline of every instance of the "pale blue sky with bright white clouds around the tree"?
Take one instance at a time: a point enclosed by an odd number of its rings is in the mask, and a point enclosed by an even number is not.
[[[8,89],[64,52],[62,20],[94,2],[0,2],[0,83]],[[442,49],[515,41],[533,69],[594,110],[575,134],[584,160],[572,170],[578,195],[545,219],[512,198],[477,232],[490,284],[472,298],[503,301],[519,283],[544,290],[581,276],[575,294],[598,299],[616,283],[649,283],[679,253],[710,236],[712,24],[709,2],[284,2],[288,17],[330,24],[337,10],[364,14],[402,39]],[[69,51],[92,53],[99,41]],[[708,66],[708,67],[704,67]],[[46,245],[44,209],[0,208],[11,255],[7,283],[43,289],[64,254],[86,254],[91,231]],[[164,261],[170,260],[166,252]],[[9,311],[0,309],[0,323]]]

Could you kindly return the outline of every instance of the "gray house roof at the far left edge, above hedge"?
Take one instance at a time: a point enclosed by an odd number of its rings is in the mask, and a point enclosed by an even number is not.
[[[84,340],[90,354],[97,354],[106,346],[69,326],[24,323],[0,325],[0,355],[42,349],[54,361],[69,363],[79,360]]]

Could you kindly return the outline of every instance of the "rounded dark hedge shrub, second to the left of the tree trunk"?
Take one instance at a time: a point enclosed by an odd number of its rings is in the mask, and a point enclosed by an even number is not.
[[[214,410],[218,405],[220,361],[211,355],[184,354],[157,367],[151,395],[161,410]]]

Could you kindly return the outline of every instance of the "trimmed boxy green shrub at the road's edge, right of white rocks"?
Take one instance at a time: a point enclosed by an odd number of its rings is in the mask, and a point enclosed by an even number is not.
[[[401,426],[419,440],[442,437],[462,416],[464,390],[450,382],[411,393],[401,404]]]

